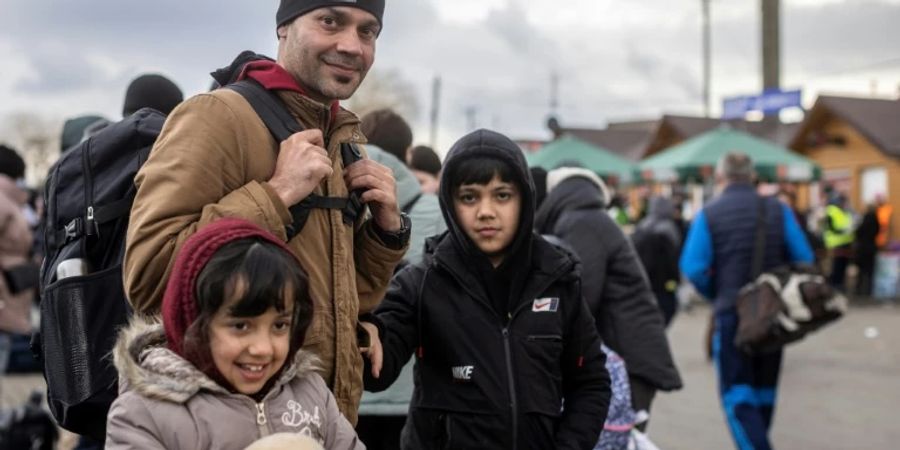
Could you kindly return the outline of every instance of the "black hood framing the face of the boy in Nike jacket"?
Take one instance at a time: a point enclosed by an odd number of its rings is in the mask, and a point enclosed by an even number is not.
[[[456,169],[464,158],[489,157],[498,159],[508,164],[513,170],[514,181],[519,184],[522,194],[522,207],[519,215],[519,228],[516,237],[510,244],[506,258],[501,268],[509,266],[512,261],[530,261],[532,227],[534,224],[534,182],[528,171],[528,163],[522,150],[502,134],[478,130],[463,136],[453,144],[447,158],[444,160],[443,175],[441,176],[438,197],[441,203],[441,212],[447,223],[447,230],[453,239],[457,249],[470,261],[477,261],[478,268],[490,266],[490,261],[478,247],[466,235],[465,231],[457,223],[456,211],[453,208],[453,186]],[[521,259],[520,259],[521,258]],[[486,263],[488,266],[484,266]]]

